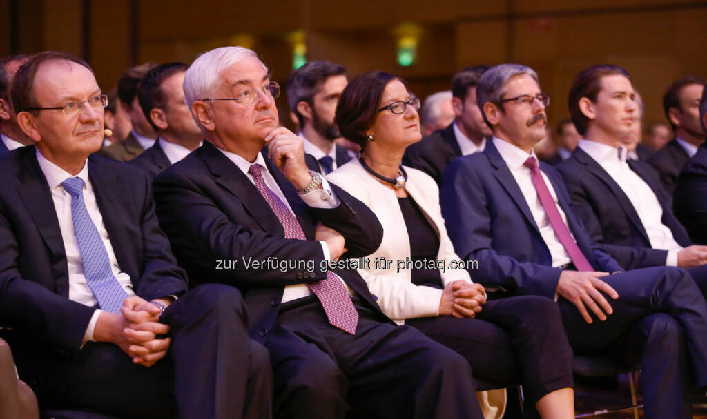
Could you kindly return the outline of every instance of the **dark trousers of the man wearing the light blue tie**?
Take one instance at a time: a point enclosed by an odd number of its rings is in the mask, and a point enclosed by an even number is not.
[[[231,286],[206,284],[171,304],[167,356],[151,368],[114,344],[89,342],[42,377],[42,408],[120,418],[269,418],[267,350],[247,337],[245,306]]]

